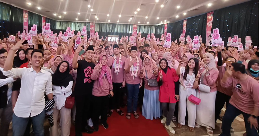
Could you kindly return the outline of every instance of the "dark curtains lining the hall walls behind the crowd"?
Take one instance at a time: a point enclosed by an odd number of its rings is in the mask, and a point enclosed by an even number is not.
[[[245,36],[251,36],[253,41],[252,45],[258,46],[258,1],[248,1],[238,5],[226,7],[223,9],[215,10],[213,15],[212,29],[219,28],[222,40],[227,43],[229,36],[233,37],[238,35],[242,38],[244,45]],[[191,17],[187,19],[186,35],[191,38],[195,35],[202,35],[202,42],[206,41],[206,17],[207,13]],[[28,27],[33,24],[38,25],[38,33],[42,32],[42,16],[28,12]],[[18,31],[23,30],[23,10],[17,7],[0,2],[0,28],[1,39],[3,35],[6,37],[8,33],[16,34]],[[71,29],[81,31],[83,26],[87,26],[87,34],[90,37],[90,23],[89,22],[69,22],[69,21],[55,21],[46,18],[46,23],[51,23],[51,30],[54,33],[65,32],[67,26]],[[95,31],[98,31],[100,37],[107,35],[131,36],[133,26],[130,24],[113,24],[113,23],[95,23]],[[167,32],[171,33],[172,40],[177,39],[183,30],[183,20],[168,23]],[[147,36],[148,33],[154,33],[155,37],[160,38],[164,33],[164,25],[147,26],[138,25],[138,30],[141,36]]]

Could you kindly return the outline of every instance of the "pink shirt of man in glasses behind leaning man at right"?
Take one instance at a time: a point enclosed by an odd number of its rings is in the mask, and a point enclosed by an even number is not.
[[[221,93],[224,93],[228,96],[231,96],[232,95],[232,87],[228,87],[228,88],[224,88],[221,86],[220,82],[221,82],[221,79],[223,78],[224,74],[225,74],[225,67],[224,66],[217,66],[218,67],[218,70],[219,70],[219,76],[218,76],[218,86],[217,86],[217,90],[220,91]]]

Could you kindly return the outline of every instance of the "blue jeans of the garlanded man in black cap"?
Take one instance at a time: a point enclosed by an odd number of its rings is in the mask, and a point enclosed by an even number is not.
[[[128,94],[127,94],[127,112],[132,112],[137,110],[138,95],[139,95],[139,85],[140,84],[127,84]],[[133,98],[133,110],[132,110],[132,98]]]

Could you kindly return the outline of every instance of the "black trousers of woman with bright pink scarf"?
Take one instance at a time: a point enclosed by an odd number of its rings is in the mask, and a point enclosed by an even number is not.
[[[101,115],[101,122],[106,123],[107,121],[107,110],[109,103],[109,95],[105,96],[94,96],[93,98],[93,111],[92,111],[92,121],[94,126],[98,126],[99,116]]]

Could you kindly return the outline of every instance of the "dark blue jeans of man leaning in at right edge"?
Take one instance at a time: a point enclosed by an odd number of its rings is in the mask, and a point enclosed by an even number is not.
[[[236,116],[243,114],[244,117],[244,124],[246,126],[246,133],[247,136],[249,135],[258,135],[257,130],[254,128],[254,126],[250,127],[250,123],[247,122],[247,119],[251,116],[250,114],[244,113],[243,111],[237,109],[230,103],[228,103],[228,107],[226,109],[226,112],[222,119],[222,126],[221,130],[222,133],[220,135],[230,135],[230,127]],[[258,123],[258,117],[257,117],[257,123]]]

